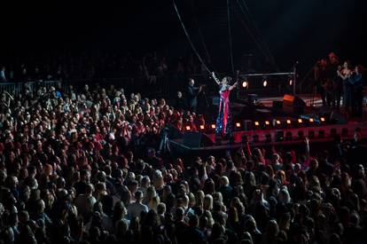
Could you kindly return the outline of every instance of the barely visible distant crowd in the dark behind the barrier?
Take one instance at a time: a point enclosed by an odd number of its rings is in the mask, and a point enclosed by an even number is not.
[[[0,71],[0,83],[130,76],[145,77],[153,82],[156,76],[169,72],[201,74],[202,68],[192,54],[168,59],[164,53],[156,51],[144,54],[59,51],[48,55],[29,55],[13,61],[0,60]]]

